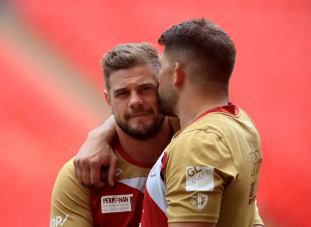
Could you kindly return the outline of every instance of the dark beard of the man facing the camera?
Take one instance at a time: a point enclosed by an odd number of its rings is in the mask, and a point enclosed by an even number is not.
[[[150,108],[146,110],[148,114],[155,114],[155,111]],[[117,125],[129,136],[138,139],[138,140],[147,140],[150,138],[155,137],[162,129],[162,125],[165,119],[165,116],[159,114],[158,116],[155,115],[152,123],[144,124],[143,122],[140,124],[142,129],[138,129],[137,127],[131,126],[131,124],[127,123],[126,120],[131,118],[132,114],[124,114],[123,118],[116,117]]]

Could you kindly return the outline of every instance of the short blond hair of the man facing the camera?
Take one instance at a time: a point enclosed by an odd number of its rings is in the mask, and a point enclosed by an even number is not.
[[[115,71],[150,63],[154,65],[157,77],[160,72],[159,53],[156,46],[150,43],[119,44],[104,55],[101,63],[108,93],[110,91],[109,76]]]

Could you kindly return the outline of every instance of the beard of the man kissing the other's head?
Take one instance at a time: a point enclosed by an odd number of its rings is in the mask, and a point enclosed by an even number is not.
[[[159,89],[157,89],[157,98],[161,114],[165,116],[173,116],[173,117],[177,116],[176,114],[174,114],[174,112],[178,96],[174,92],[173,87],[171,85],[167,84],[164,90],[162,90],[162,92],[159,92]]]

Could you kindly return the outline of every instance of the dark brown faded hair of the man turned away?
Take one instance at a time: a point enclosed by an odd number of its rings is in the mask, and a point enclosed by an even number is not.
[[[211,20],[192,19],[174,25],[158,39],[173,64],[184,59],[191,70],[190,80],[229,83],[236,49],[231,38]]]

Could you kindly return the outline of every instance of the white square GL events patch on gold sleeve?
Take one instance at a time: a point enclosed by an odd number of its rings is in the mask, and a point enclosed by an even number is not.
[[[189,166],[186,169],[186,191],[213,191],[214,168]]]

